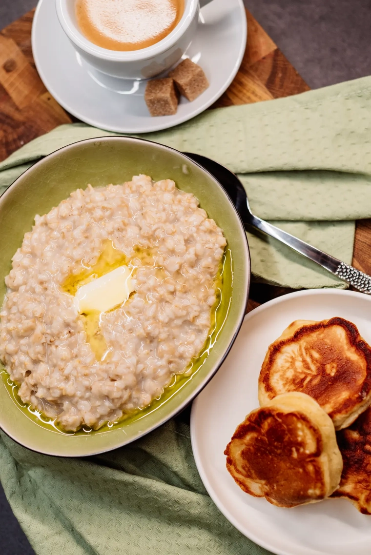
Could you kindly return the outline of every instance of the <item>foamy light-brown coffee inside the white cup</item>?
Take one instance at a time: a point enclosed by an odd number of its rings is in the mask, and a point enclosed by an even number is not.
[[[77,0],[79,27],[110,50],[138,50],[161,41],[183,15],[184,0]]]

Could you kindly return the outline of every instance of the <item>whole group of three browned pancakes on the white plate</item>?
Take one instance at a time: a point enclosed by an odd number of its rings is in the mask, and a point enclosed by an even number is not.
[[[224,452],[243,491],[280,507],[346,497],[371,514],[371,347],[352,322],[292,322],[268,348],[259,403]]]

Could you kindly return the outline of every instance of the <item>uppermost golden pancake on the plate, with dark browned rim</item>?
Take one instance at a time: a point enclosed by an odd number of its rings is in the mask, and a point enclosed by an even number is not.
[[[371,349],[343,318],[296,320],[269,346],[259,376],[259,403],[300,391],[328,413],[336,430],[371,403]]]

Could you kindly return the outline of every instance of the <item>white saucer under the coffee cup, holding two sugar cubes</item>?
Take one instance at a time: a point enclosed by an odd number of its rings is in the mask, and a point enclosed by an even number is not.
[[[32,52],[44,85],[70,114],[117,133],[147,133],[183,123],[203,112],[232,83],[242,62],[247,23],[242,0],[213,0],[200,12],[199,30],[186,56],[203,68],[210,86],[193,102],[182,97],[175,115],[152,118],[145,82],[105,78],[76,53],[53,0],[39,0]]]

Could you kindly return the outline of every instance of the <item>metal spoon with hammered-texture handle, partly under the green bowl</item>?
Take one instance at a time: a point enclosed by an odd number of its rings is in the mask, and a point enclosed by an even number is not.
[[[278,239],[278,241],[281,241],[291,249],[297,251],[297,253],[313,260],[315,263],[322,266],[322,268],[325,268],[335,276],[338,276],[338,278],[353,285],[355,289],[371,295],[371,277],[369,275],[356,270],[353,266],[345,264],[341,260],[334,258],[334,256],[324,253],[322,250],[316,249],[314,246],[305,243],[305,241],[286,233],[286,231],[276,228],[275,225],[269,224],[267,221],[254,216],[250,209],[246,191],[237,175],[232,173],[232,171],[218,164],[218,162],[214,162],[214,160],[210,160],[210,158],[206,158],[200,154],[190,154],[187,152],[184,154],[207,169],[210,174],[219,181],[223,189],[230,196],[245,228],[252,226],[266,235]]]

